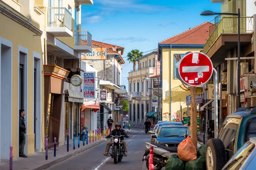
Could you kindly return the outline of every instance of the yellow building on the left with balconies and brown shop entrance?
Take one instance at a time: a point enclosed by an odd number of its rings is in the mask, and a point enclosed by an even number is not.
[[[44,151],[46,139],[49,147],[54,137],[64,141],[65,126],[79,132],[83,96],[70,78],[80,75],[80,53],[92,52],[81,5],[93,0],[0,0],[0,160],[9,159],[10,146],[18,157],[19,109],[26,112],[26,155]]]

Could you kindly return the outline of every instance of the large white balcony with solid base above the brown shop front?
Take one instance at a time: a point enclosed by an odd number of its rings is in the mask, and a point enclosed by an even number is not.
[[[48,7],[47,9],[47,32],[54,37],[73,37],[70,11],[61,7]]]

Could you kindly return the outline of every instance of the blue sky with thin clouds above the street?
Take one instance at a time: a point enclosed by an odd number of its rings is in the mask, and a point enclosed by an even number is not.
[[[205,10],[221,11],[221,3],[211,0],[93,0],[93,6],[82,6],[82,30],[93,40],[125,48],[149,51],[158,42],[180,34],[214,16],[200,16]],[[146,54],[146,53],[145,53]],[[128,72],[133,69],[127,58],[122,70],[122,85],[128,89]]]

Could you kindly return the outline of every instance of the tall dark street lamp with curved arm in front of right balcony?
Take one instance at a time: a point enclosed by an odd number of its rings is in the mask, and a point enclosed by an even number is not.
[[[209,15],[237,15],[238,16],[238,47],[237,47],[237,60],[238,60],[238,108],[241,108],[240,103],[240,8],[238,8],[238,13],[218,13],[213,11],[204,11],[200,15],[209,16]]]

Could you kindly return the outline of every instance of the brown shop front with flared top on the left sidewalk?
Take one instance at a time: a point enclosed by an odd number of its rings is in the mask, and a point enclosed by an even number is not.
[[[54,146],[55,137],[57,145],[59,143],[63,87],[69,73],[57,65],[44,65],[44,119],[48,147]]]

